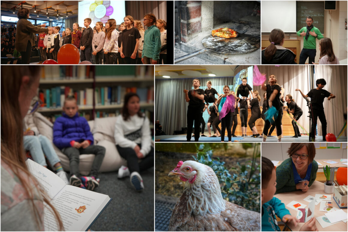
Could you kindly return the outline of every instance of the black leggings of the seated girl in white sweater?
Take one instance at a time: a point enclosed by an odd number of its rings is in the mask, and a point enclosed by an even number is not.
[[[138,144],[138,146],[141,148],[141,145]],[[118,153],[120,153],[120,156],[125,158],[127,160],[127,167],[129,169],[129,172],[142,172],[145,171],[151,167],[153,167],[153,161],[154,161],[154,149],[151,147],[151,150],[149,154],[144,154],[145,157],[142,159],[139,159],[138,156],[136,156],[135,151],[133,148],[130,147],[120,147],[116,145],[116,148],[118,150]],[[138,162],[140,160],[140,162]]]

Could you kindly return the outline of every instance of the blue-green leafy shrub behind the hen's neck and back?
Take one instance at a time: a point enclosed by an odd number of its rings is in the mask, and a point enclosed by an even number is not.
[[[246,144],[243,147],[254,147],[253,157],[247,165],[240,165],[239,162],[235,167],[229,170],[224,167],[225,162],[220,162],[219,158],[213,159],[213,150],[206,144],[198,144],[197,157],[192,156],[195,161],[211,167],[220,181],[222,197],[232,203],[243,206],[248,210],[260,212],[260,190],[261,175],[260,164],[256,162],[260,157],[258,152],[260,144]]]

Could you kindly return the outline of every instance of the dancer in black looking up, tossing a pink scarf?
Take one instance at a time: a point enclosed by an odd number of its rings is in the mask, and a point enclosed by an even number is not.
[[[277,83],[277,78],[274,75],[270,75],[268,78],[268,83],[269,84],[263,84],[262,85],[262,90],[267,92],[267,108],[270,107],[275,107],[276,110],[278,111],[278,116],[275,118],[275,125],[277,128],[277,139],[278,142],[282,140],[282,128],[280,127],[281,123],[281,117],[280,115],[282,114],[281,111],[283,111],[282,104],[280,103],[280,86],[276,85]],[[263,127],[263,142],[266,142],[267,139],[267,134],[268,134],[268,128],[270,126],[271,122],[266,120],[264,123]]]

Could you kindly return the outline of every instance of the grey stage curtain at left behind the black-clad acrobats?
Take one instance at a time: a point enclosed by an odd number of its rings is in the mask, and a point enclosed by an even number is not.
[[[181,130],[181,127],[187,127],[187,106],[183,90],[192,89],[192,81],[194,78],[181,79],[156,79],[155,101],[156,101],[156,116],[155,120],[159,120],[162,125],[162,130],[172,135],[174,131]],[[212,87],[218,93],[223,93],[222,87],[216,86],[233,85],[233,77],[216,77],[216,78],[199,78],[200,88],[206,89],[206,82],[210,80]],[[215,95],[215,97],[217,97]],[[211,106],[212,103],[209,104]],[[206,111],[205,111],[206,112]],[[205,121],[207,115],[204,113]]]

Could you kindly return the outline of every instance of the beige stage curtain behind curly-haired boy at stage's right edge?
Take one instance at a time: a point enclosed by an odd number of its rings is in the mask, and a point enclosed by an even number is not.
[[[347,66],[346,65],[315,65],[314,83],[319,78],[324,78],[326,85],[324,90],[329,91],[336,98],[330,101],[324,100],[324,112],[327,121],[327,133],[338,133],[343,127],[345,119],[343,113],[347,113]],[[305,93],[306,94],[306,93]],[[317,122],[318,134],[322,134],[321,123]],[[342,136],[347,136],[347,130]]]

